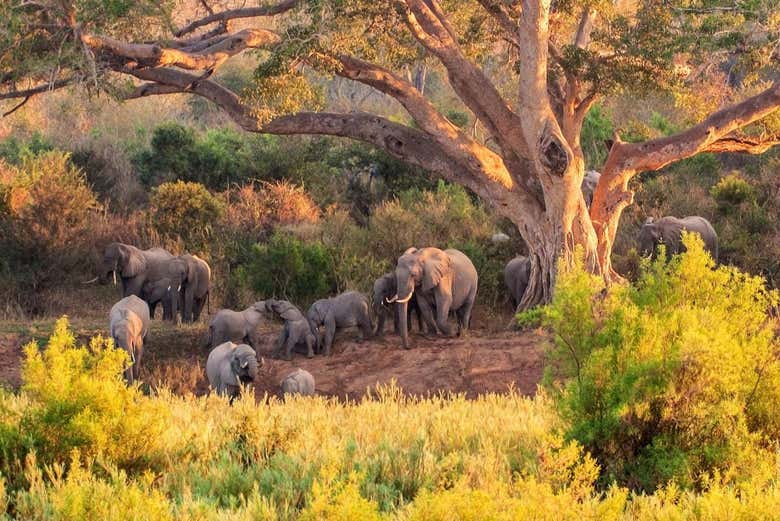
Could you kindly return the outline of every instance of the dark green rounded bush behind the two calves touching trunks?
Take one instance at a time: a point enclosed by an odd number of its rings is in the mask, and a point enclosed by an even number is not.
[[[305,305],[334,288],[333,259],[325,245],[281,231],[267,243],[255,245],[242,272],[259,298],[285,298]]]

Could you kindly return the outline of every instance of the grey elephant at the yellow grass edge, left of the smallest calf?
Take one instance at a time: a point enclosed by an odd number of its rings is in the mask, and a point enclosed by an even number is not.
[[[246,344],[225,342],[209,353],[206,360],[206,376],[209,385],[221,396],[229,396],[230,403],[241,393],[241,385],[255,381],[258,368],[257,353]]]

